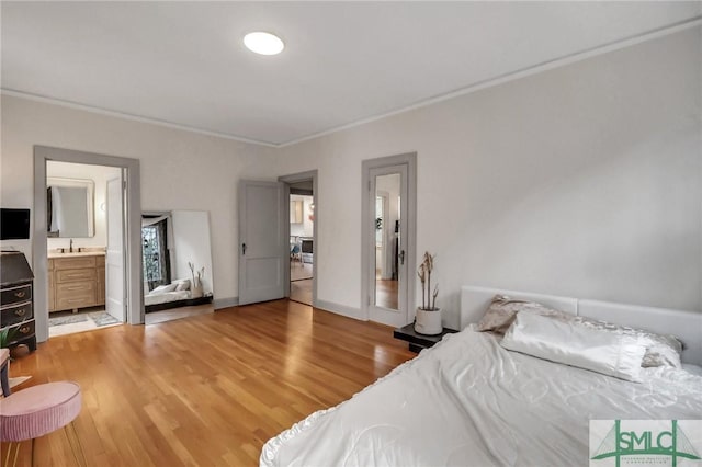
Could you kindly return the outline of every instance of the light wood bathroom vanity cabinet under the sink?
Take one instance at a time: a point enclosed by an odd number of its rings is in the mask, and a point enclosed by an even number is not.
[[[105,304],[104,253],[68,253],[48,259],[48,310]]]

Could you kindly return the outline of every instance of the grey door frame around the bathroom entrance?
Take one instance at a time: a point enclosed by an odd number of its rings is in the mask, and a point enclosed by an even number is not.
[[[48,258],[46,247],[46,162],[83,163],[89,166],[107,166],[125,169],[126,182],[126,316],[129,324],[144,323],[144,284],[141,282],[141,185],[139,160],[72,149],[34,146],[34,235],[33,265],[38,282],[34,287],[34,311],[36,319],[37,341],[48,339]],[[38,285],[38,286],[37,286]]]

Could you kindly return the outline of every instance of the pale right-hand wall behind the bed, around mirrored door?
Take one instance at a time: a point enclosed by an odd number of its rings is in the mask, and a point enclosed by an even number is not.
[[[361,161],[417,151],[445,323],[464,284],[700,311],[701,31],[283,148],[319,170],[318,298],[360,308]]]

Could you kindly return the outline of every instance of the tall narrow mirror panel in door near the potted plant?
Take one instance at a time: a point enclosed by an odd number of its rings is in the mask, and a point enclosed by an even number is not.
[[[398,309],[400,175],[375,178],[375,305]]]

